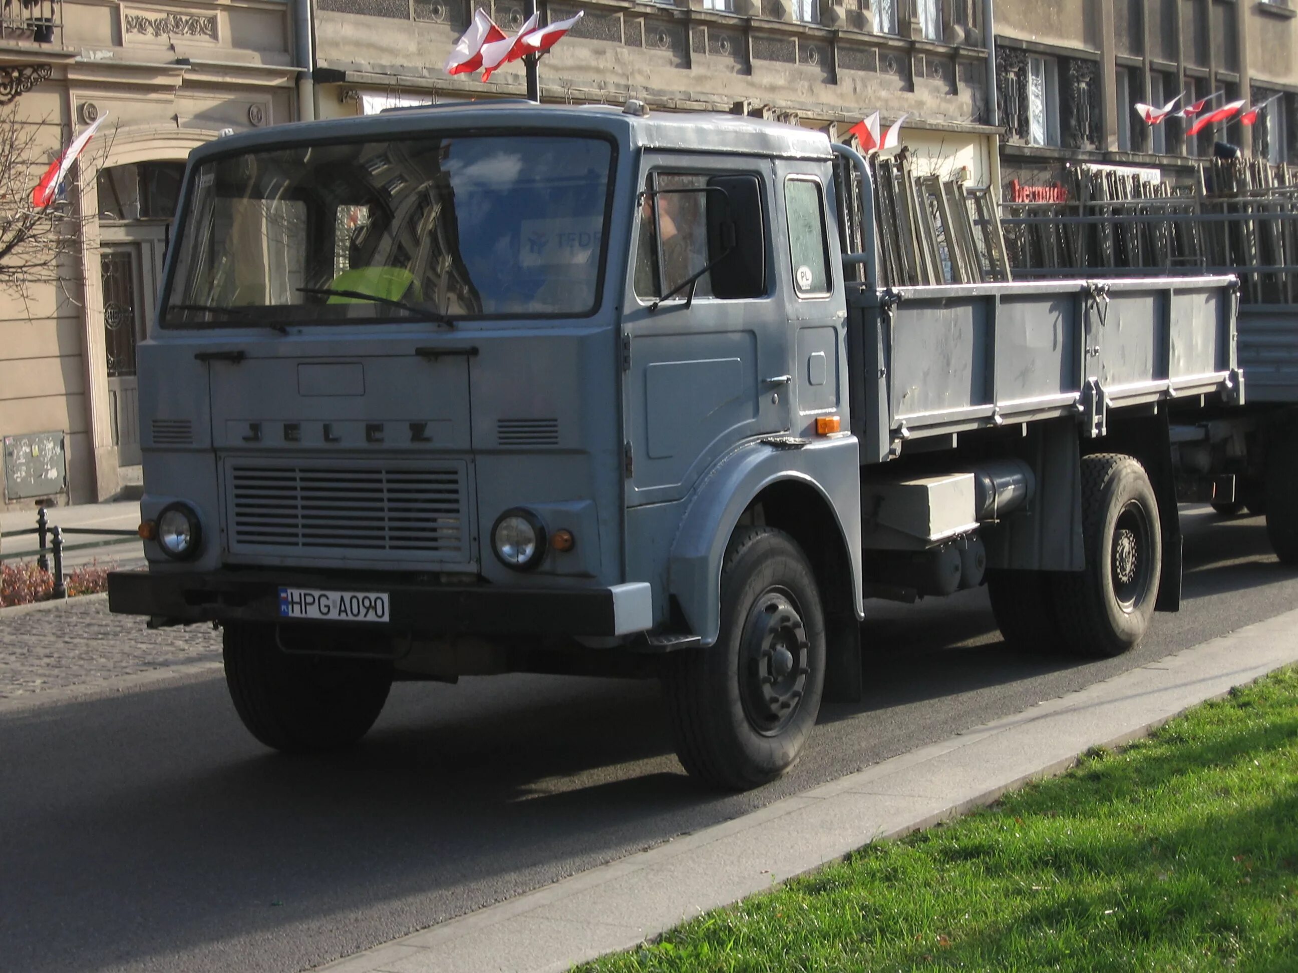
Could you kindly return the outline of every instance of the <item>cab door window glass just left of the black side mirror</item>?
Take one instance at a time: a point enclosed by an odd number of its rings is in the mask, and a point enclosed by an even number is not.
[[[640,204],[636,244],[636,296],[657,298],[707,265],[707,176],[650,173]],[[704,274],[697,297],[713,292]],[[685,300],[685,294],[678,294]]]

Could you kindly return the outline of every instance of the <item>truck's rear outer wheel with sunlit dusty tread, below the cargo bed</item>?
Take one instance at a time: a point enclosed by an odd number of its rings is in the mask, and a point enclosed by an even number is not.
[[[1059,633],[1079,655],[1121,655],[1145,637],[1163,572],[1158,501],[1138,461],[1083,457],[1081,535],[1085,570],[1054,580]]]

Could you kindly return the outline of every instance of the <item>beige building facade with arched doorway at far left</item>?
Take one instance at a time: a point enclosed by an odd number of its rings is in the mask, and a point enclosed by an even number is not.
[[[297,118],[293,8],[4,0],[3,13],[0,102],[38,134],[32,187],[74,132],[108,117],[55,204],[67,215],[58,280],[0,292],[0,503],[92,502],[139,480],[135,344],[186,156]]]

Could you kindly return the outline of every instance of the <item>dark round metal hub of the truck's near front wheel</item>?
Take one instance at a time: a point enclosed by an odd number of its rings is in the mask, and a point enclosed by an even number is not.
[[[744,712],[759,733],[779,733],[797,714],[810,647],[793,595],[781,588],[763,592],[745,620],[740,672]]]

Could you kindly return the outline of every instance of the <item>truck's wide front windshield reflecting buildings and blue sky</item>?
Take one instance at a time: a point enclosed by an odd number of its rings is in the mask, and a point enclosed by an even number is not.
[[[162,324],[572,317],[596,309],[611,145],[296,145],[191,175]]]

